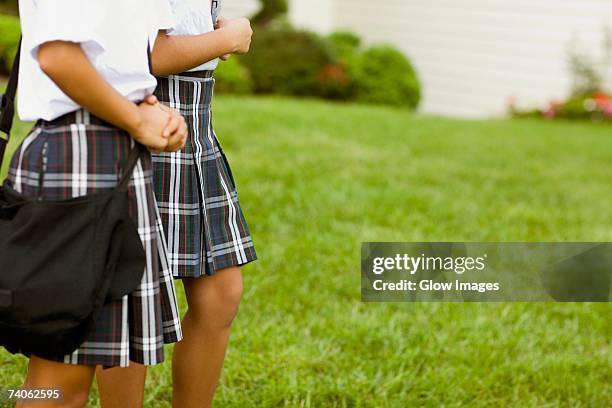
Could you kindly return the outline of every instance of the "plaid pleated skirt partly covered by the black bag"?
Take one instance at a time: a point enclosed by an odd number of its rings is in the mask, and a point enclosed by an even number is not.
[[[112,190],[134,145],[125,132],[80,110],[37,123],[12,158],[8,182],[40,200],[70,199]],[[129,211],[146,252],[140,286],[104,305],[87,340],[66,364],[153,365],[164,360],[164,343],[181,339],[174,280],[153,191],[150,155],[143,155],[128,188]]]

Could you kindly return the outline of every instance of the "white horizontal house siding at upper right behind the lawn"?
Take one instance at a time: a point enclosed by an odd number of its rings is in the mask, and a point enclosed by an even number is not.
[[[244,0],[233,0],[243,3]],[[232,0],[226,0],[231,4]],[[391,43],[423,83],[421,111],[483,117],[561,99],[571,87],[567,57],[602,52],[611,0],[290,0],[294,23],[349,29],[367,44]],[[229,7],[229,6],[226,6]]]

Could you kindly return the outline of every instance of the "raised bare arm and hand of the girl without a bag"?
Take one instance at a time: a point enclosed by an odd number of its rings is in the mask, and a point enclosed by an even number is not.
[[[226,20],[219,29],[200,35],[167,35],[160,31],[151,54],[155,75],[189,71],[227,54],[249,51],[253,30],[246,18]]]

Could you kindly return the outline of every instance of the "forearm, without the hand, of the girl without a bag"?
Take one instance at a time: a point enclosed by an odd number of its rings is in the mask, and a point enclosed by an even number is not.
[[[155,75],[172,75],[235,51],[225,30],[200,35],[167,35],[160,31],[151,54]]]

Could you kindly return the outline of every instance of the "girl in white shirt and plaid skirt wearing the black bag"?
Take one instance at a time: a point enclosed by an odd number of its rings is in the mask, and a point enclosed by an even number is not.
[[[147,49],[173,18],[167,0],[153,1],[19,1],[18,110],[36,125],[11,161],[7,183],[13,190],[39,200],[108,191],[134,140],[158,152],[182,148],[186,127],[178,112],[152,98],[139,104],[156,85]],[[182,337],[148,152],[134,169],[128,195],[146,254],[140,285],[103,307],[76,351],[29,361],[25,387],[59,389],[63,406],[85,405],[96,366],[161,363],[164,343]]]

